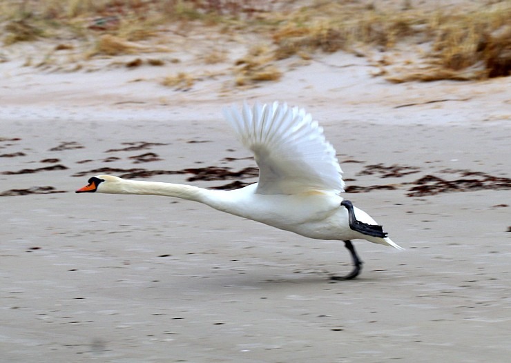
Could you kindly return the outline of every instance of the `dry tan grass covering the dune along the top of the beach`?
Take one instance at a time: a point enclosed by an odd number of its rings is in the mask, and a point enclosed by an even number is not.
[[[389,8],[389,3],[398,6]],[[0,37],[6,46],[55,39],[62,44],[55,51],[80,49],[85,58],[91,58],[151,52],[154,46],[144,42],[164,39],[162,32],[177,23],[228,35],[252,32],[267,43],[236,61],[233,74],[238,85],[280,79],[276,63],[289,57],[311,59],[339,50],[365,55],[360,48],[389,54],[398,46],[411,53],[419,45],[423,54],[415,58],[420,62],[405,62],[392,70],[389,66],[396,66],[392,61],[380,64],[379,74],[396,82],[510,75],[509,0],[429,9],[414,8],[414,3],[317,0],[300,6],[298,1],[259,0],[0,0]],[[77,41],[81,47],[66,48]],[[204,63],[226,59],[227,50],[211,52],[204,56]],[[193,84],[190,80],[178,84],[187,82]]]

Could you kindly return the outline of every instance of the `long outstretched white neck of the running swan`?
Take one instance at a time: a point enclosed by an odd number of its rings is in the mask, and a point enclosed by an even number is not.
[[[189,186],[185,184],[161,183],[158,181],[124,180],[112,186],[104,185],[99,193],[108,194],[139,194],[139,195],[163,195],[193,200],[194,202],[208,203],[211,190]]]

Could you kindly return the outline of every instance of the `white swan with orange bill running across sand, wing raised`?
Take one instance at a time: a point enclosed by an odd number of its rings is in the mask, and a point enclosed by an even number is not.
[[[403,250],[372,217],[343,199],[345,183],[334,147],[304,109],[256,103],[224,108],[224,116],[259,166],[258,183],[236,190],[209,190],[184,184],[126,180],[97,175],[76,193],[162,195],[207,204],[314,239],[342,240],[353,270],[331,279],[353,279],[362,270],[352,239]]]

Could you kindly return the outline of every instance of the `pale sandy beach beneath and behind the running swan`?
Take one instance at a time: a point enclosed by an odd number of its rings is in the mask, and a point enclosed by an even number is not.
[[[183,91],[155,81],[168,68],[21,62],[0,63],[1,362],[508,361],[508,79],[389,84],[336,53],[282,61],[256,88],[221,75]],[[346,197],[406,251],[356,241],[362,275],[332,283],[351,268],[342,242],[178,199],[73,193],[102,168],[231,183],[177,172],[255,166],[221,115],[244,99],[312,112],[363,192]],[[421,195],[421,180],[452,184]]]

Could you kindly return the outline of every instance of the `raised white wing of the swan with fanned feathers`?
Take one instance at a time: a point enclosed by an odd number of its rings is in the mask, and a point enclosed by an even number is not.
[[[258,163],[257,193],[343,191],[336,152],[305,110],[278,102],[253,108],[245,103],[242,112],[233,106],[225,108],[224,115]]]

